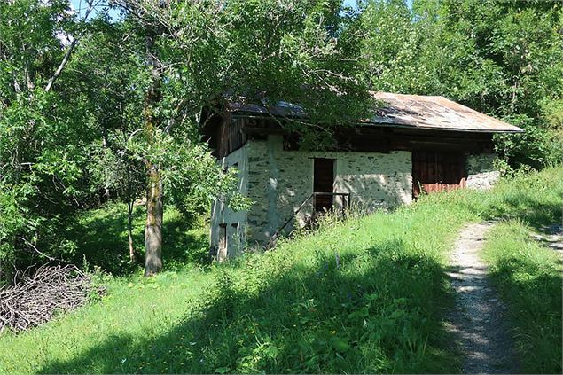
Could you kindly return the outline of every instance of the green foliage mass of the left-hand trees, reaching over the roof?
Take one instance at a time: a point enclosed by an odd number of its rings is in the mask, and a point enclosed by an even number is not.
[[[217,196],[247,207],[236,176],[222,173],[199,136],[202,108],[221,110],[225,96],[292,101],[327,124],[368,107],[348,48],[354,38],[337,42],[338,1],[113,5],[123,11],[118,22],[106,13],[82,20],[67,0],[0,4],[0,186],[18,194],[27,223],[7,231],[23,238],[10,241],[9,268],[74,254],[60,226],[108,199],[130,207],[147,166],[188,219]],[[156,70],[146,64],[147,35]],[[310,124],[293,126],[318,136]]]

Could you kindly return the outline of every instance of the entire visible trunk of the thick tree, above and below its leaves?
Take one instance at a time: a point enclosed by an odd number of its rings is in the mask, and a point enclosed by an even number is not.
[[[149,145],[154,142],[158,129],[155,108],[160,104],[160,66],[155,58],[155,33],[145,35],[146,65],[151,70],[151,83],[145,94],[145,135]],[[145,225],[145,277],[162,270],[162,176],[159,166],[146,161],[146,225]]]

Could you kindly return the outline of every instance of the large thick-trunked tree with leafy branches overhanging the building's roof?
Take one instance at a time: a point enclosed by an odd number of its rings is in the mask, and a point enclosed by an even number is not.
[[[201,108],[220,110],[225,95],[261,104],[289,100],[311,117],[298,124],[301,132],[318,137],[312,123],[365,114],[367,92],[350,74],[355,61],[345,51],[354,49],[338,43],[339,1],[117,3],[145,36],[145,149],[137,151],[145,153],[150,276],[162,267],[164,181],[180,182],[170,173],[182,170],[180,164],[195,170],[200,160],[211,160],[197,136]],[[184,157],[170,158],[162,145],[175,145],[174,154]]]

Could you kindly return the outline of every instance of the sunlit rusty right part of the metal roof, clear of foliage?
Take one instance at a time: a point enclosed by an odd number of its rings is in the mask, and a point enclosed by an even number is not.
[[[384,105],[364,123],[420,129],[457,130],[472,132],[524,131],[504,121],[474,111],[444,97],[373,93]]]

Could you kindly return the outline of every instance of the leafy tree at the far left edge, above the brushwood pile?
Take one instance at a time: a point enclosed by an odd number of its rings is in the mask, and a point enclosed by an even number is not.
[[[80,17],[63,0],[0,3],[0,200],[12,216],[0,235],[4,279],[17,250],[43,259],[53,256],[40,241],[69,250],[58,224],[79,205],[89,132],[80,98],[58,83],[86,31],[94,1],[85,4]]]

